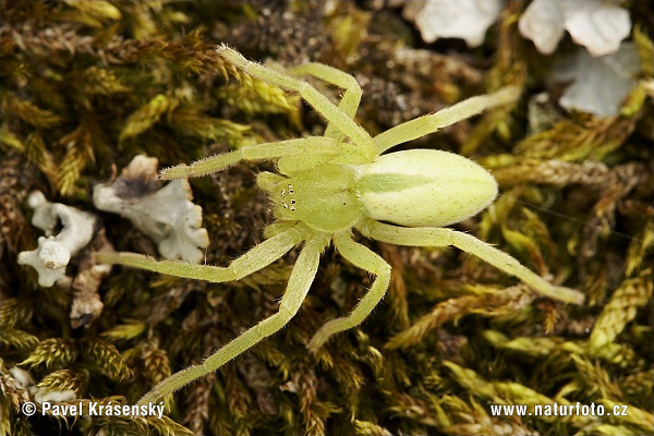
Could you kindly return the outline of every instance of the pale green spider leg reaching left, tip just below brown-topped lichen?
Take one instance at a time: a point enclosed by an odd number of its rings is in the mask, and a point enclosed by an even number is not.
[[[96,262],[102,264],[119,264],[149,271],[184,277],[195,280],[207,280],[214,283],[240,280],[258,271],[283,256],[289,250],[303,240],[298,229],[290,229],[262,242],[241,257],[234,259],[228,267],[213,265],[195,265],[180,261],[156,261],[136,253],[96,253]]]

